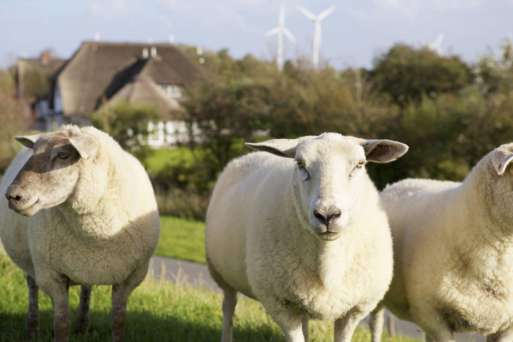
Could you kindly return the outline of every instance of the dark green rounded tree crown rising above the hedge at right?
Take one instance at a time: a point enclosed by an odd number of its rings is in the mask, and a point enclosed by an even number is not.
[[[471,83],[471,72],[458,56],[443,56],[427,48],[396,44],[378,56],[369,78],[394,102],[420,100],[423,93],[457,93]]]

